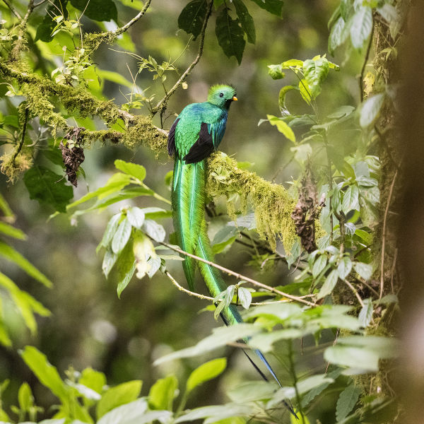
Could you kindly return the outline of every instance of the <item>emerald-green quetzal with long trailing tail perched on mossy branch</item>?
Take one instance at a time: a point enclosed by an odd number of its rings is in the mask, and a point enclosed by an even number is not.
[[[235,88],[232,86],[212,86],[209,89],[206,102],[192,103],[184,107],[172,124],[168,135],[168,153],[170,155],[175,154],[172,180],[172,216],[177,242],[185,252],[195,254],[208,261],[213,261],[213,253],[206,234],[206,220],[204,218],[206,158],[218,149],[224,136],[228,110],[235,100],[237,100],[237,97]],[[220,272],[213,266],[190,257],[185,257],[182,266],[191,290],[194,289],[196,267],[199,268],[206,287],[213,298],[227,288]],[[221,317],[227,325],[243,321],[235,305],[224,308]],[[255,353],[281,386],[261,351],[257,350]],[[261,374],[261,377],[266,379],[264,373],[261,372],[249,355],[247,357]],[[288,404],[286,406],[295,415],[293,407]]]

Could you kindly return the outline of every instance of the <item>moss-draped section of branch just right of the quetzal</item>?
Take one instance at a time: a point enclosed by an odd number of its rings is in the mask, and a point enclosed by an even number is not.
[[[287,190],[272,184],[254,172],[240,170],[237,162],[223,153],[216,153],[208,160],[208,194],[228,198],[240,194],[242,205],[252,202],[259,236],[265,237],[271,248],[276,249],[276,237],[281,238],[286,251],[295,242],[296,232],[290,217],[296,201],[290,199]],[[234,217],[234,204],[228,202],[228,212]]]

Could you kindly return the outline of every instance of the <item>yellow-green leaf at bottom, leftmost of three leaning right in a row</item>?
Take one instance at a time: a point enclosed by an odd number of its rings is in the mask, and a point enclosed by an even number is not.
[[[97,418],[101,418],[105,413],[112,411],[113,408],[117,408],[117,406],[135,401],[140,396],[141,384],[141,380],[133,380],[108,389],[96,406]],[[98,423],[100,423],[100,420]]]

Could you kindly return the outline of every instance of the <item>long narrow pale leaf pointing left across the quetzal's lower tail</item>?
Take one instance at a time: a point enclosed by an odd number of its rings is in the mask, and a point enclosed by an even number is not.
[[[214,351],[215,349],[225,346],[230,341],[236,341],[257,334],[261,331],[258,326],[253,324],[236,324],[228,327],[218,327],[213,329],[211,336],[203,338],[199,343],[191,348],[185,348],[181,351],[172,352],[155,360],[155,365],[164,363],[168,360],[179,358],[191,358],[192,356],[202,355],[204,353]]]

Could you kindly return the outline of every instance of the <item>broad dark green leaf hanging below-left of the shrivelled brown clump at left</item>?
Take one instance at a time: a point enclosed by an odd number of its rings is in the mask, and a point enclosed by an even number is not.
[[[64,177],[47,167],[35,165],[23,176],[30,199],[53,206],[56,211],[66,212],[66,205],[73,197],[72,187],[66,185]]]

